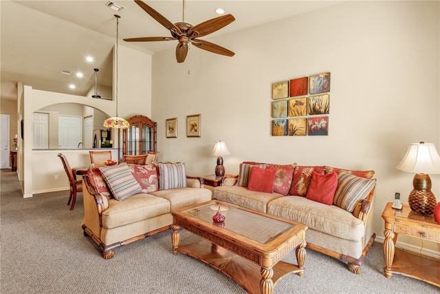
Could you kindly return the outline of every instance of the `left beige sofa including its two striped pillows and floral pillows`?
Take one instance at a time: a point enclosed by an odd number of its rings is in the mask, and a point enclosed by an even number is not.
[[[91,166],[83,180],[85,236],[104,259],[115,248],[170,229],[171,211],[211,200],[203,180],[183,163]]]

